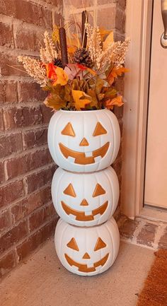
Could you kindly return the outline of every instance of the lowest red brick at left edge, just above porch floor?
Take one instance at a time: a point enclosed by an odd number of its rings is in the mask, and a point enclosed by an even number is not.
[[[0,259],[0,278],[16,266],[14,251],[8,252]]]

